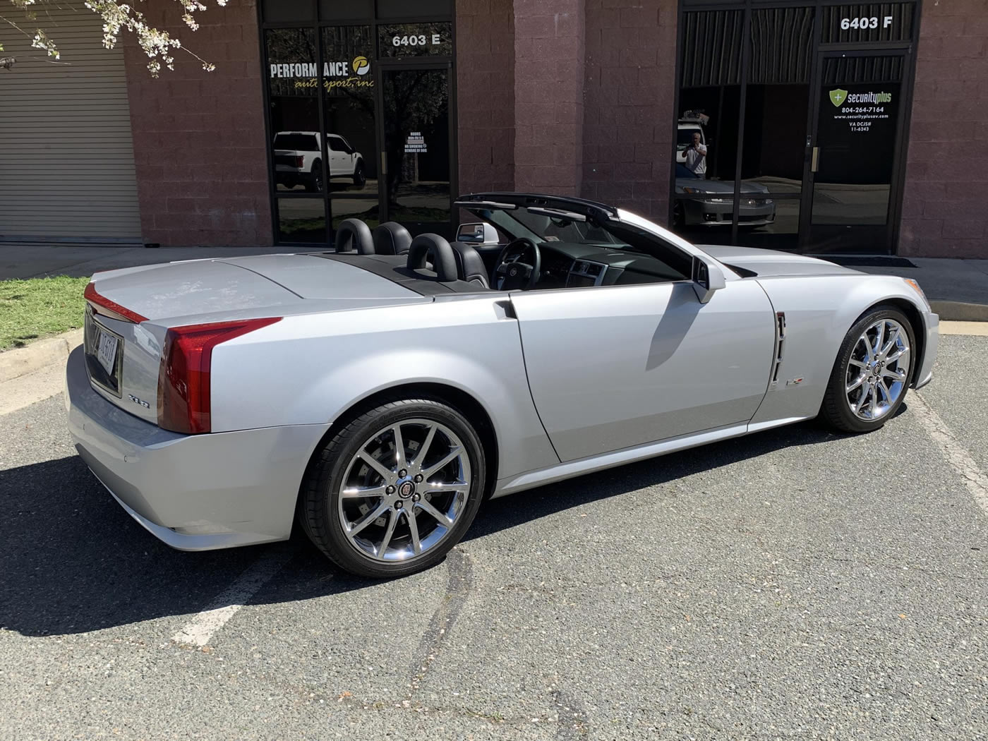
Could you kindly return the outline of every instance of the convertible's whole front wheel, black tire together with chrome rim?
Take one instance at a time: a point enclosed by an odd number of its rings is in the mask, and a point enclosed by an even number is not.
[[[841,343],[821,418],[849,433],[871,432],[884,425],[895,416],[912,383],[914,346],[912,325],[897,308],[876,306],[865,312]]]

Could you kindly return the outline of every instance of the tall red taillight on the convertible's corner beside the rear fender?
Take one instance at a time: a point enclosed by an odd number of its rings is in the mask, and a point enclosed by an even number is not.
[[[277,321],[281,321],[281,317],[169,329],[158,371],[158,427],[189,435],[209,432],[212,349],[221,342]]]

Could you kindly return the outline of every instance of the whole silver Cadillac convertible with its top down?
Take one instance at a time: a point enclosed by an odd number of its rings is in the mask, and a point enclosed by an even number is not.
[[[341,223],[335,252],[98,273],[68,360],[79,454],[186,550],[284,540],[407,574],[483,499],[929,382],[915,282],[690,244],[620,208],[484,193],[451,244]]]

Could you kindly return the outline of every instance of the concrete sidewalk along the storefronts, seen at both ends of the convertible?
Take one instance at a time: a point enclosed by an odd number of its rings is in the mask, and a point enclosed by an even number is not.
[[[0,280],[41,276],[86,277],[101,270],[174,260],[321,252],[312,247],[87,247],[79,245],[0,245]],[[854,265],[864,273],[913,278],[942,319],[988,321],[988,260],[909,258],[916,267]]]

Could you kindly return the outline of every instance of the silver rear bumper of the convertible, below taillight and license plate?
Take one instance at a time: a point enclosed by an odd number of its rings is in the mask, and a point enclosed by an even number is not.
[[[180,435],[127,414],[89,384],[82,350],[65,373],[76,450],[124,510],[181,550],[284,540],[305,465],[328,425]]]

